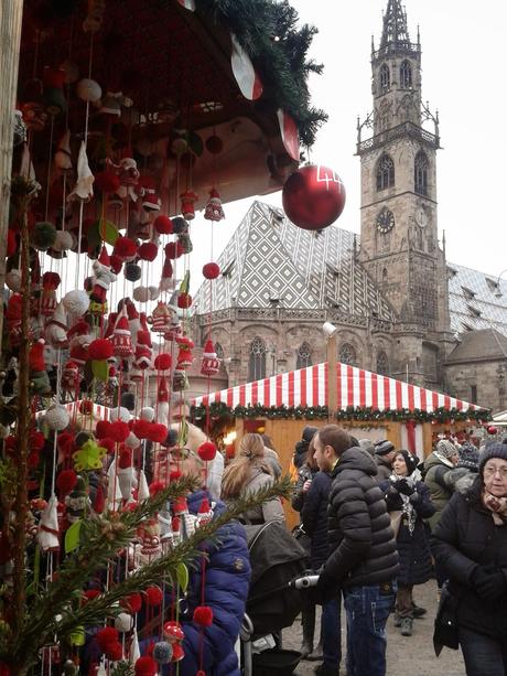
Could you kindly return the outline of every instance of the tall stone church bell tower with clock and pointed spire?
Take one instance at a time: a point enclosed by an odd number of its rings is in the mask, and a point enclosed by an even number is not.
[[[421,97],[419,30],[411,42],[400,0],[388,0],[380,44],[371,45],[371,93],[373,112],[358,121],[360,260],[400,321],[438,331],[445,323],[438,289],[439,120]]]

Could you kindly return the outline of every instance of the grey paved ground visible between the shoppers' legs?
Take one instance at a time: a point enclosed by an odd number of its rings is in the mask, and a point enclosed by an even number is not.
[[[416,589],[416,600],[419,605],[428,609],[422,620],[414,620],[413,635],[401,636],[393,626],[392,615],[388,621],[387,674],[396,676],[464,676],[465,668],[459,651],[443,648],[440,657],[433,652],[433,620],[436,611],[436,586],[432,580]],[[343,612],[343,611],[342,611]],[[345,622],[343,620],[343,625]],[[345,627],[342,631],[345,645]],[[283,631],[283,647],[299,650],[301,645],[301,623]],[[343,647],[345,655],[345,647]],[[315,662],[301,662],[295,674],[310,676],[315,668]],[[341,674],[345,675],[345,665]]]

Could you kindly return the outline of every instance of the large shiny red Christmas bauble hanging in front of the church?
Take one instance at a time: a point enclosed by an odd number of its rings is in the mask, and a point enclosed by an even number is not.
[[[320,230],[334,223],[343,212],[345,186],[332,169],[309,164],[285,181],[282,204],[294,225],[305,230]]]

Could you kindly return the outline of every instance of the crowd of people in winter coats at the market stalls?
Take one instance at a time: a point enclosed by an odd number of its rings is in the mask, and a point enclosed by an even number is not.
[[[175,472],[197,480],[198,491],[186,500],[190,532],[203,514],[215,518],[230,501],[248,498],[282,474],[269,437],[245,434],[225,466],[219,453],[213,462],[202,461],[197,449],[205,440],[191,425],[187,448],[180,448],[170,433],[151,453],[158,482],[166,484]],[[309,565],[319,573],[316,589],[302,597],[301,613],[301,654],[319,663],[315,674],[337,676],[345,666],[348,676],[384,676],[389,616],[402,636],[417,634],[414,620],[427,610],[417,604],[413,591],[435,578],[435,598],[442,592],[442,599],[454,601],[452,621],[467,675],[507,676],[505,441],[479,452],[470,442],[441,439],[421,461],[388,440],[357,440],[336,425],[303,429],[290,469],[291,502],[300,513]],[[179,610],[181,676],[241,673],[237,642],[250,578],[244,526],[271,521],[284,522],[278,497],[220,527],[219,544],[211,544],[205,567],[191,570]],[[161,534],[163,538],[163,525]],[[204,603],[209,622],[203,626],[195,613]],[[142,624],[139,636],[141,654],[153,654],[158,637]],[[94,650],[91,635],[84,664],[97,663]],[[171,674],[171,666],[162,665],[161,673]]]

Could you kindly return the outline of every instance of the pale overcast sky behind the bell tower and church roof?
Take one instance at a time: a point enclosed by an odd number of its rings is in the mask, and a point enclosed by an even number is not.
[[[387,0],[290,1],[302,22],[319,29],[311,56],[324,64],[323,75],[311,77],[310,89],[313,104],[330,119],[311,160],[342,176],[347,204],[336,225],[359,233],[356,119],[373,107],[370,43],[374,35],[378,45]],[[498,275],[507,268],[507,2],[406,0],[406,8],[413,42],[420,26],[422,97],[440,114],[439,236],[445,230],[449,261]],[[261,198],[281,204],[281,193]],[[225,205],[227,219],[215,226],[215,258],[250,203]],[[191,259],[195,290],[208,253],[194,242]]]

